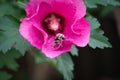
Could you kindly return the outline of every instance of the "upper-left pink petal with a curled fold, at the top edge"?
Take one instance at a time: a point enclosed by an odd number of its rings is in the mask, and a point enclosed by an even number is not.
[[[27,18],[41,21],[52,12],[51,5],[45,1],[32,1],[26,6]]]

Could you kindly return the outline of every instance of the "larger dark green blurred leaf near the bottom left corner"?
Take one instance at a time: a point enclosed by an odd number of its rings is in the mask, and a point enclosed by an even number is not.
[[[19,51],[15,49],[9,50],[6,54],[0,53],[0,68],[6,66],[9,69],[17,71],[19,65],[16,62],[16,59],[20,58],[22,55]]]

